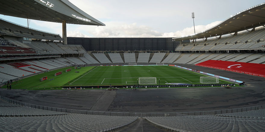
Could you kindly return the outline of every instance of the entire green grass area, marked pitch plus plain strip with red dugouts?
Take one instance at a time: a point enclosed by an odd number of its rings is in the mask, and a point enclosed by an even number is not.
[[[69,68],[72,68],[72,71],[65,72]],[[63,74],[54,76],[54,73],[59,71],[63,71]],[[48,80],[40,82],[39,78],[43,76],[48,76]],[[157,84],[160,80],[161,85],[166,83],[200,84],[201,76],[205,75],[173,66],[95,66],[81,69],[66,67],[21,79],[14,82],[12,88],[49,89],[75,85],[136,85],[139,77],[156,77]],[[53,80],[49,80],[52,78]],[[231,82],[219,80],[219,83]]]

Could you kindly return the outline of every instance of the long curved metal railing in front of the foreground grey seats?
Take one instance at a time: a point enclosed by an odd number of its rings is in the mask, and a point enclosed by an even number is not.
[[[210,111],[195,111],[195,112],[169,112],[169,113],[129,113],[129,112],[105,112],[105,111],[90,111],[90,110],[74,110],[74,109],[64,109],[64,108],[56,108],[56,107],[48,107],[36,104],[29,104],[20,101],[15,101],[6,97],[1,96],[1,99],[7,101],[12,104],[16,104],[19,106],[31,107],[35,109],[42,110],[51,110],[57,112],[66,112],[66,113],[77,113],[77,114],[88,114],[88,115],[105,115],[105,116],[138,116],[138,117],[147,117],[147,116],[179,116],[188,115],[188,116],[199,116],[199,115],[216,115],[216,114],[224,114],[224,113],[235,113],[235,112],[243,112],[250,110],[260,110],[265,109],[265,105],[253,106],[253,107],[243,107],[243,108],[234,108],[234,109],[226,109],[226,110],[210,110]]]

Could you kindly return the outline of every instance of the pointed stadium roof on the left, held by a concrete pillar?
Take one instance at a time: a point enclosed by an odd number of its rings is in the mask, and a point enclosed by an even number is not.
[[[68,0],[1,0],[0,14],[70,24],[105,26]]]

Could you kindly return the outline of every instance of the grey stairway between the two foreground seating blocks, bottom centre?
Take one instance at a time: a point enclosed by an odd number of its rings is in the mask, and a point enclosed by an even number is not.
[[[145,118],[138,118],[133,124],[120,132],[165,132],[165,130],[157,128]]]

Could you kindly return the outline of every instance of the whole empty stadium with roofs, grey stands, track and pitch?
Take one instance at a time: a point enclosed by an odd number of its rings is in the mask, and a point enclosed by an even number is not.
[[[0,131],[265,130],[265,5],[176,38],[67,37],[106,26],[68,0],[2,0]],[[96,17],[96,16],[95,16]]]

